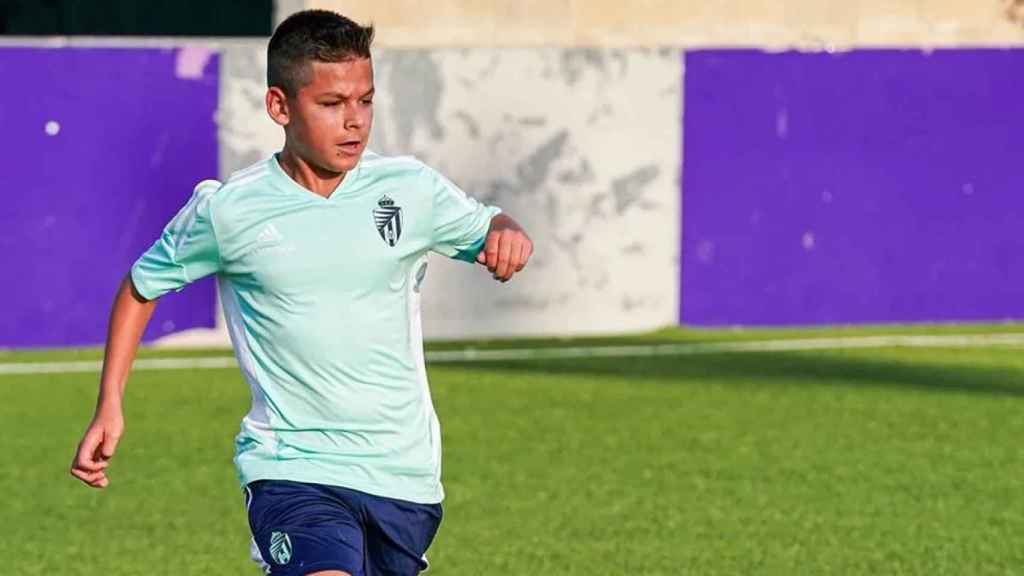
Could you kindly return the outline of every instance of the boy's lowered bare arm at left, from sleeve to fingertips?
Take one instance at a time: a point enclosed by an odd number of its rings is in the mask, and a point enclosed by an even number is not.
[[[156,307],[157,300],[143,298],[135,290],[131,275],[126,276],[111,311],[96,412],[71,465],[72,476],[93,488],[110,484],[105,470],[124,431],[121,401],[128,372]]]

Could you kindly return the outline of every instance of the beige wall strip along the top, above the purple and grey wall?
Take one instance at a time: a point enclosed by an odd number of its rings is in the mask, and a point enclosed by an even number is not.
[[[1019,0],[286,0],[379,27],[382,46],[1024,45]]]

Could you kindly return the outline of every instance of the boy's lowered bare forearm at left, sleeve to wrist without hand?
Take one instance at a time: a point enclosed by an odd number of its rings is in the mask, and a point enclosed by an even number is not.
[[[157,307],[157,300],[146,300],[126,276],[114,299],[103,352],[103,372],[99,383],[96,411],[121,409],[128,372],[135,361],[145,326]]]

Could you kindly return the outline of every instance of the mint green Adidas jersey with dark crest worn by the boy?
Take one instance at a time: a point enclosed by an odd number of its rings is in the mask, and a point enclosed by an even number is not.
[[[371,152],[329,198],[275,157],[196,187],[131,277],[152,299],[217,275],[253,397],[236,439],[243,485],[443,498],[420,286],[428,252],[473,261],[498,212],[415,159]]]

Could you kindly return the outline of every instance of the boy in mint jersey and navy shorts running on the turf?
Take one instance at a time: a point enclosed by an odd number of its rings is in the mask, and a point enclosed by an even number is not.
[[[125,383],[158,299],[216,274],[252,388],[234,463],[268,574],[426,568],[443,498],[420,329],[426,255],[476,261],[506,282],[532,252],[497,208],[413,158],[365,150],[372,39],[372,27],[323,10],[274,32],[266,109],[284,150],[223,183],[200,182],[132,266],[72,464],[108,486]]]

